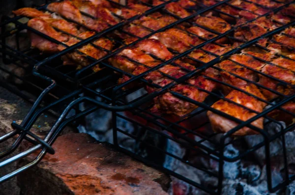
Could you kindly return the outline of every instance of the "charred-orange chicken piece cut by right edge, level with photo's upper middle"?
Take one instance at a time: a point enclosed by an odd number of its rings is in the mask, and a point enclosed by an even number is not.
[[[284,64],[280,63],[280,66],[284,66]],[[286,67],[290,67],[290,64],[286,65]],[[294,94],[294,89],[291,88],[291,86],[286,86],[287,84],[295,84],[295,74],[289,69],[280,68],[275,65],[267,64],[262,68],[262,72],[266,75],[269,75],[271,77],[274,77],[282,82],[273,80],[269,77],[266,77],[264,75],[259,75],[260,80],[259,83],[266,86],[267,88],[270,88],[272,90],[275,90],[279,93],[285,94],[285,95],[291,95]],[[284,83],[285,84],[284,84]],[[281,83],[281,84],[280,84]],[[265,95],[265,97],[268,100],[271,100],[273,98],[278,97],[278,94],[275,94],[267,89],[261,89],[262,93]]]

